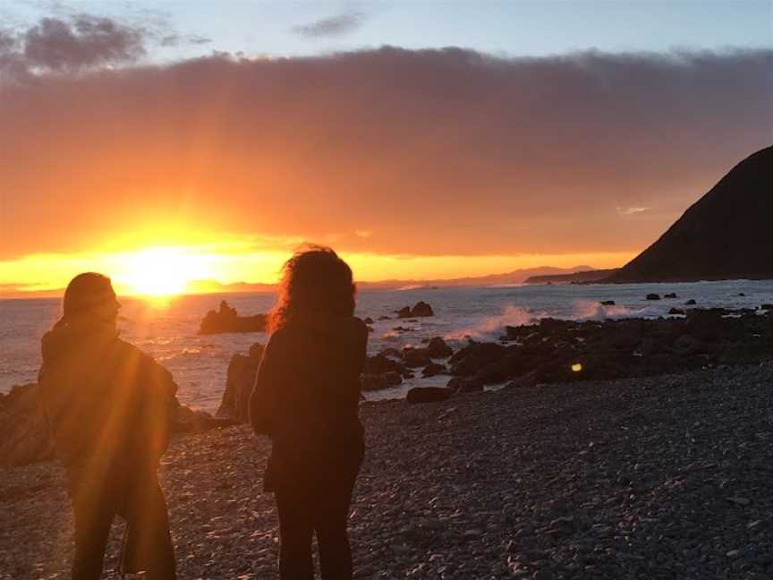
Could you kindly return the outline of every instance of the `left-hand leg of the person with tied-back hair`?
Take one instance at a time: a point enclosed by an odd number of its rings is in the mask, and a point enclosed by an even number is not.
[[[110,525],[117,511],[113,494],[105,490],[86,489],[71,483],[70,496],[75,520],[75,556],[72,580],[99,580]]]

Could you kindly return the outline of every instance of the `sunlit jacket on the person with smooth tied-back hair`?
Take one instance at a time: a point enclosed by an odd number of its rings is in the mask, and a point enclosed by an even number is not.
[[[107,476],[157,469],[177,386],[112,328],[58,324],[42,340],[41,403],[69,470]]]

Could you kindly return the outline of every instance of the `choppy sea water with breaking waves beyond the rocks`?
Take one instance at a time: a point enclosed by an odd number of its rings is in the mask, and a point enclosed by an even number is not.
[[[678,298],[647,301],[650,293],[676,293]],[[744,295],[741,295],[744,294]],[[667,311],[689,299],[709,308],[754,308],[773,303],[773,281],[732,280],[683,284],[587,285],[587,286],[489,286],[437,288],[406,287],[397,290],[366,289],[358,294],[357,314],[370,317],[369,354],[387,346],[421,345],[430,337],[445,337],[454,350],[468,337],[493,340],[505,325],[527,324],[545,317],[572,320],[667,316]],[[274,294],[196,294],[163,301],[122,298],[121,336],[152,354],[174,375],[185,405],[215,412],[225,389],[228,362],[236,353],[246,354],[265,333],[197,334],[201,318],[226,300],[242,315],[268,311]],[[395,310],[423,300],[435,316],[413,322],[396,320]],[[614,300],[615,306],[599,302]],[[0,392],[13,385],[36,380],[40,365],[40,337],[61,315],[61,301],[53,298],[0,300]],[[391,320],[378,320],[379,316]],[[407,332],[395,327],[410,328]],[[403,385],[366,393],[368,398],[404,397],[415,386],[445,385],[449,378],[417,377]]]

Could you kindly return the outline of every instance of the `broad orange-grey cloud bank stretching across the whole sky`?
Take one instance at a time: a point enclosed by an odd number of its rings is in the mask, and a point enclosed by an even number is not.
[[[348,252],[631,252],[769,145],[773,51],[214,55],[0,91],[0,258],[173,221]]]

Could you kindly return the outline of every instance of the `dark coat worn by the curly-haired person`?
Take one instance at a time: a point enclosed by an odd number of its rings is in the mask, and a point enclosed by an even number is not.
[[[353,482],[364,453],[358,416],[368,329],[354,317],[292,319],[268,340],[250,399],[272,440],[264,488]]]

